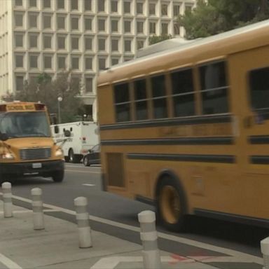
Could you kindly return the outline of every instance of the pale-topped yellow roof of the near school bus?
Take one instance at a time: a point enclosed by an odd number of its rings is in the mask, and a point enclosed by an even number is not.
[[[97,85],[116,83],[138,76],[200,64],[269,43],[269,20],[241,27],[205,39],[184,43],[160,53],[140,57],[102,71]]]

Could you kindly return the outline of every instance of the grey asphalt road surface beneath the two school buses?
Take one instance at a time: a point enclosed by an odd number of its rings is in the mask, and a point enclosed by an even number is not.
[[[142,202],[102,191],[100,172],[101,167],[98,165],[84,167],[81,164],[67,164],[66,176],[62,183],[54,183],[41,177],[16,179],[12,181],[13,195],[31,199],[31,189],[39,187],[43,191],[44,203],[71,210],[74,210],[74,199],[85,196],[88,198],[88,212],[91,216],[138,227],[137,214],[154,208]],[[62,217],[68,219],[68,216]],[[115,227],[95,223],[95,228],[118,235]],[[167,235],[180,236],[256,256],[261,256],[260,241],[269,235],[267,229],[198,217],[190,219],[188,232],[184,234],[169,233],[159,226],[158,230]],[[120,236],[134,242],[139,240],[135,234],[120,232]],[[164,244],[169,245],[169,242]],[[179,246],[170,244],[169,247],[170,251],[171,247],[174,247],[175,252]]]

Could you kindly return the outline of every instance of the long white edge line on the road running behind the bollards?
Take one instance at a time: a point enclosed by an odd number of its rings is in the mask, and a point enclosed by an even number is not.
[[[2,193],[0,193],[0,195],[2,195]],[[27,198],[22,198],[22,197],[16,196],[16,195],[12,195],[12,196],[13,196],[13,198],[15,198],[17,200],[32,203],[32,200],[29,200]],[[76,216],[76,212],[74,210],[65,209],[65,208],[62,208],[62,207],[57,207],[55,205],[48,205],[48,204],[43,204],[43,206],[48,207],[50,209],[55,209],[57,211],[61,211],[61,212]],[[99,216],[90,216],[90,220],[97,221],[97,222],[104,223],[104,224],[108,224],[108,225],[115,226],[115,227],[118,227],[118,228],[124,228],[126,230],[132,230],[132,231],[135,231],[137,233],[140,233],[140,228],[139,227],[130,226],[130,225],[127,225],[127,224],[124,224],[124,223],[118,223],[116,221],[111,221],[109,219],[103,219],[103,218],[100,218]],[[236,251],[236,250],[233,250],[233,249],[226,249],[224,247],[217,247],[217,246],[215,246],[213,244],[207,244],[207,243],[203,243],[203,242],[198,242],[198,241],[191,240],[191,239],[188,239],[188,238],[178,237],[176,235],[168,235],[166,233],[161,233],[161,232],[158,232],[158,237],[166,239],[166,240],[171,240],[171,241],[174,241],[174,242],[179,242],[181,244],[188,244],[188,245],[191,245],[191,246],[200,247],[201,249],[207,249],[207,250],[210,250],[210,251],[220,252],[220,253],[223,253],[223,254],[226,254],[226,255],[229,255],[229,256],[240,257],[240,258],[244,259],[245,261],[251,261],[253,263],[258,263],[258,264],[263,265],[263,258],[260,258],[258,256],[254,256],[254,255],[251,255],[251,254],[246,254],[244,252]]]

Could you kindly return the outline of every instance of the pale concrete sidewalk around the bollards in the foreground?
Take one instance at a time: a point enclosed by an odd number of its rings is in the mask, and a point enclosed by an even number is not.
[[[32,211],[13,205],[4,218],[0,201],[0,268],[142,269],[142,245],[92,230],[92,247],[78,247],[74,223],[44,216],[45,229],[34,230]],[[160,251],[162,268],[214,269],[211,265]]]

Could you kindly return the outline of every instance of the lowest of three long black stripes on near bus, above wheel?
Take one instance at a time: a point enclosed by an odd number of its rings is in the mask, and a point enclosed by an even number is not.
[[[232,155],[128,153],[127,158],[136,160],[176,160],[181,162],[235,163],[235,156]]]

